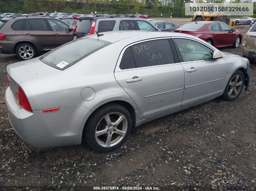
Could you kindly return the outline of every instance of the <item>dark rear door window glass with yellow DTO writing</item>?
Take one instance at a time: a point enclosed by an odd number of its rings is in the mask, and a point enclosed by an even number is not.
[[[175,63],[168,39],[139,43],[131,48],[138,68]]]

